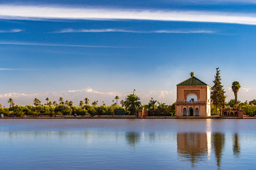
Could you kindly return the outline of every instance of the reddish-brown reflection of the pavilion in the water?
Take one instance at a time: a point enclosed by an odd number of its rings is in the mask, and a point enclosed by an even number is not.
[[[207,134],[186,132],[177,134],[177,153],[179,157],[191,162],[191,166],[206,158],[208,152]]]

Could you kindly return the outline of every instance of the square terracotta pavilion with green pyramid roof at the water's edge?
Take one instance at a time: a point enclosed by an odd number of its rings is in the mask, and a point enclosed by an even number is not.
[[[176,116],[210,116],[210,86],[193,74],[177,84]]]

